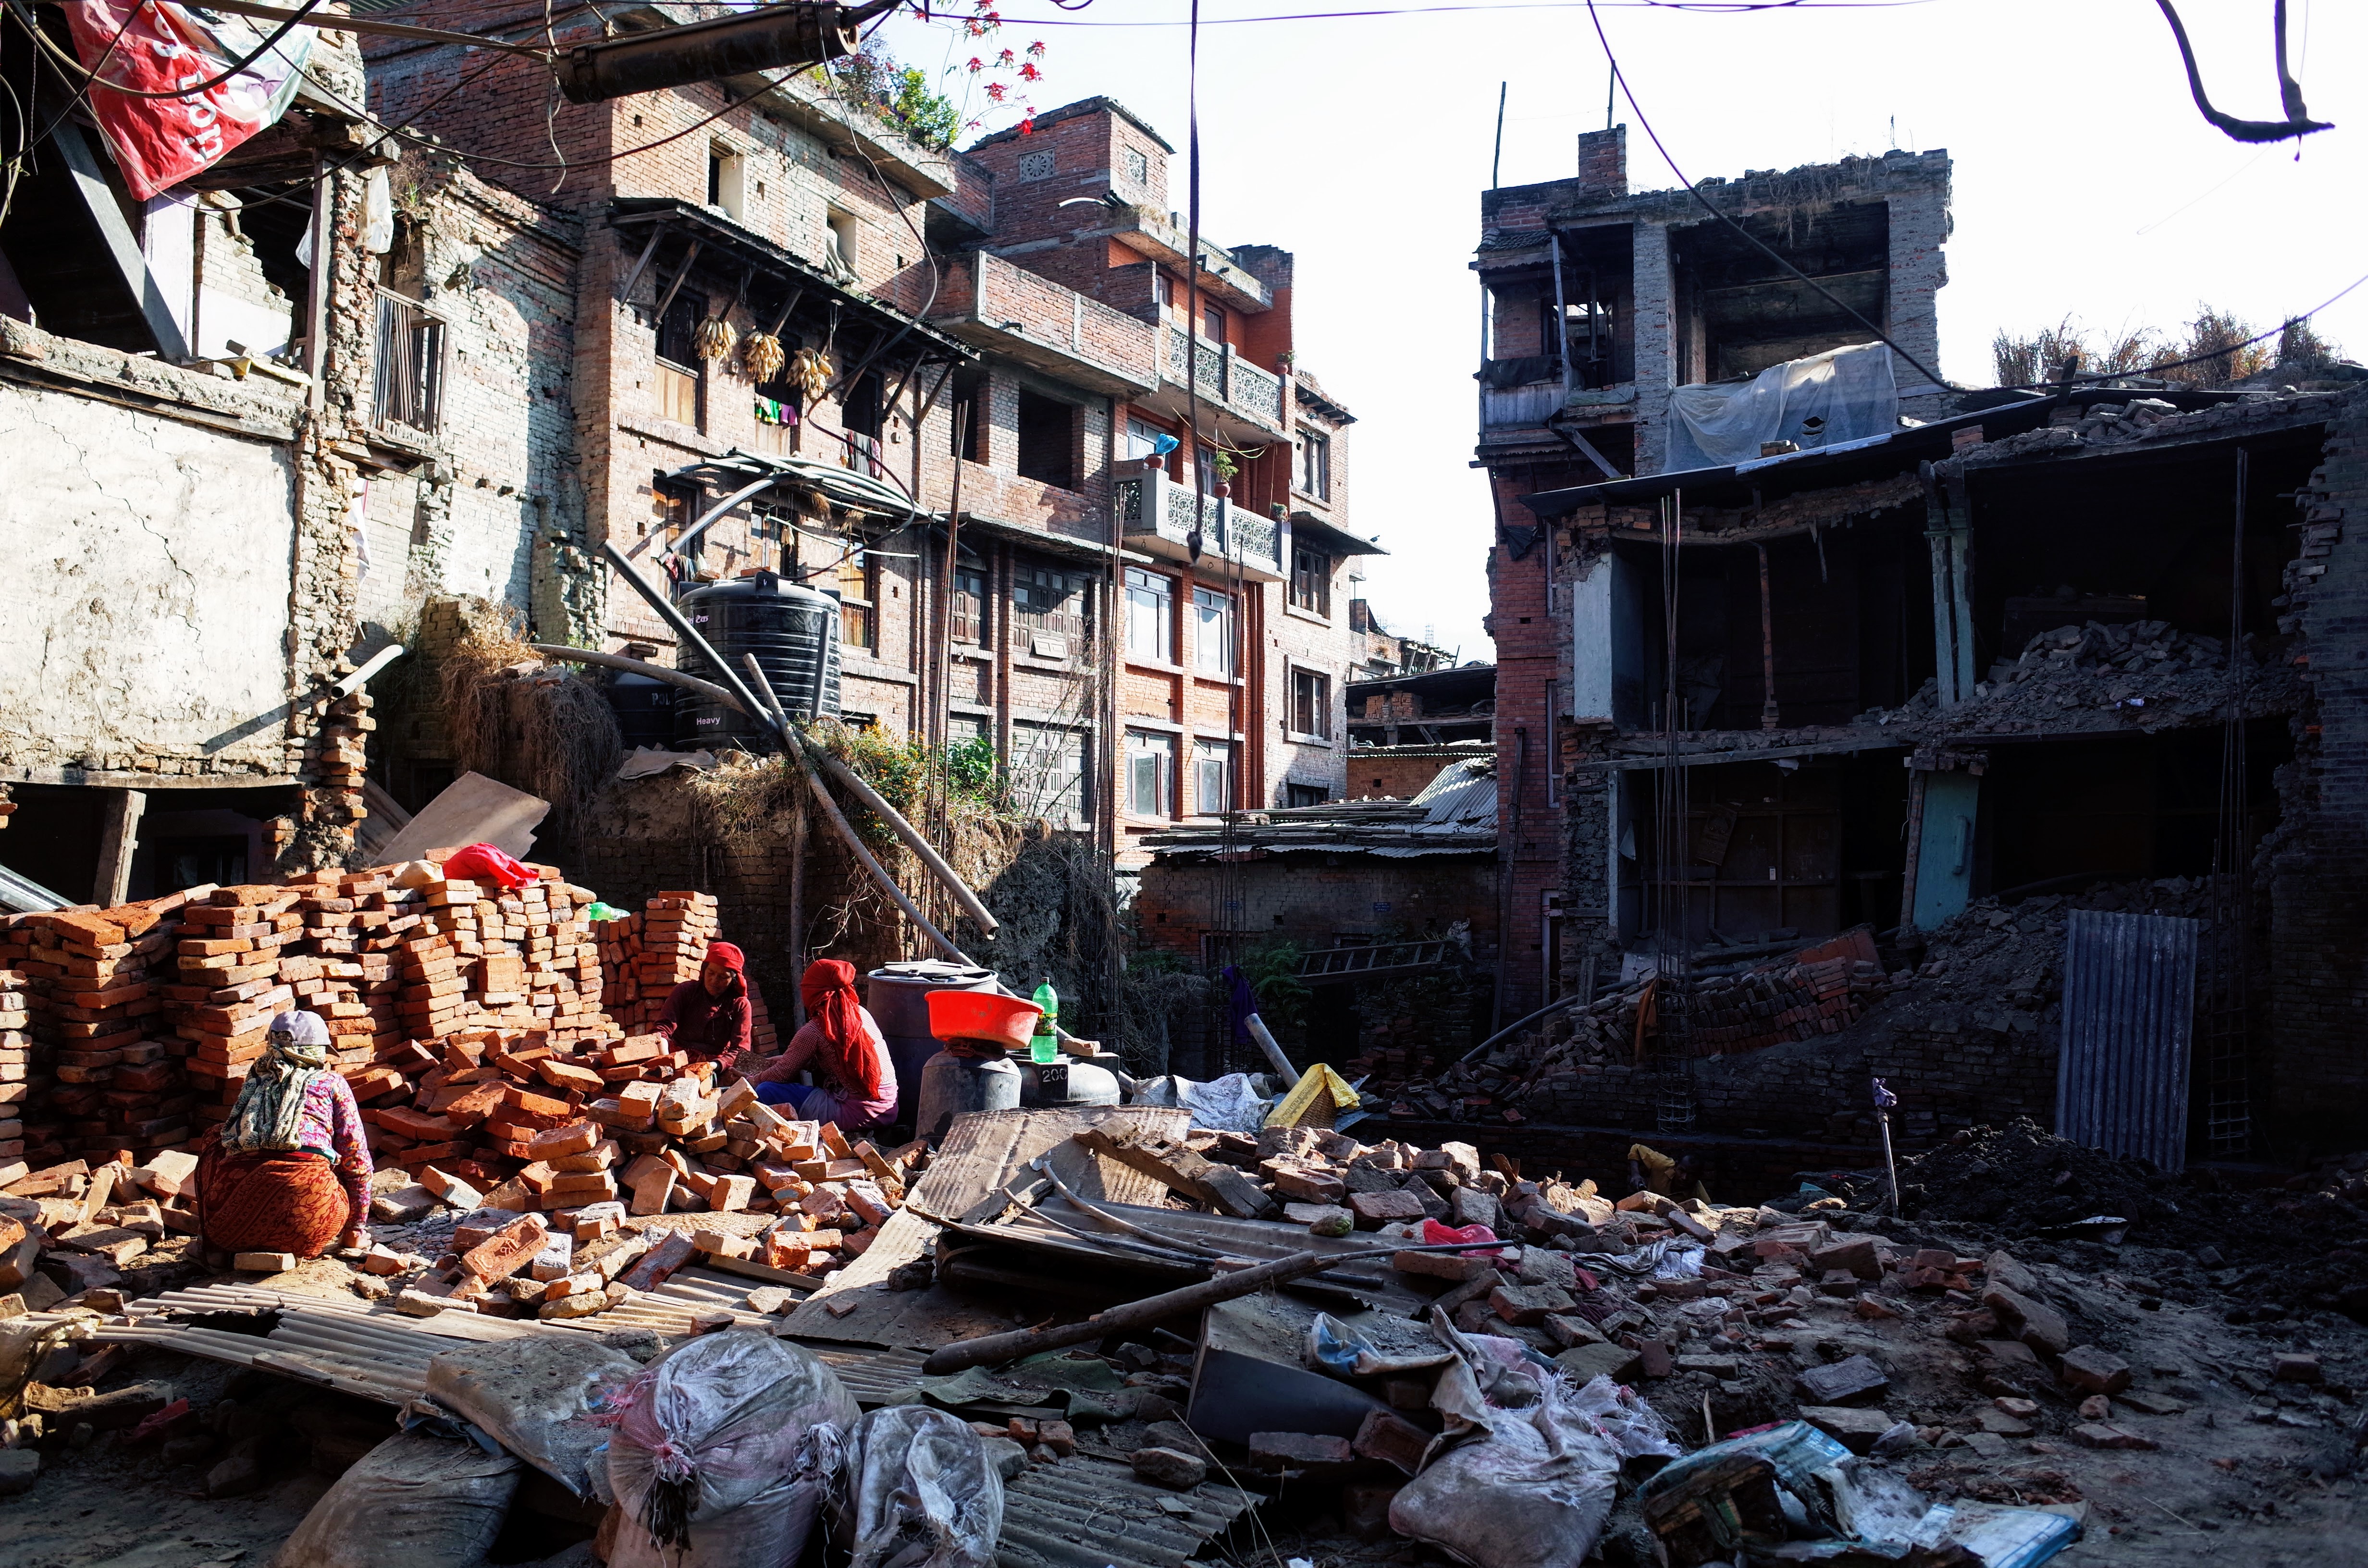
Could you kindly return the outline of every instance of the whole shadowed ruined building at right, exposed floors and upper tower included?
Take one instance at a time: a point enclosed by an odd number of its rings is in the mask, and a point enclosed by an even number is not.
[[[1686,192],[1632,197],[1620,130],[1579,152],[1575,180],[1485,197],[1475,261],[1499,1011],[1572,1011],[1411,1111],[1463,1094],[1795,1163],[1864,1158],[1868,1075],[1911,1144],[2051,1120],[2089,907],[2198,931],[2198,1158],[2342,1142],[2363,393],[1942,391]],[[1946,171],[1703,197],[1932,365]],[[1712,457],[1714,398],[1802,365],[1873,365],[1871,424],[1795,412]]]

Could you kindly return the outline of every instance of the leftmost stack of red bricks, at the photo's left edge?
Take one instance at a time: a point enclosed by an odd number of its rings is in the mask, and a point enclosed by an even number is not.
[[[185,898],[9,921],[0,962],[26,976],[31,1023],[19,1158],[130,1165],[187,1142],[192,1094],[170,1056],[170,988],[152,973],[180,936]]]

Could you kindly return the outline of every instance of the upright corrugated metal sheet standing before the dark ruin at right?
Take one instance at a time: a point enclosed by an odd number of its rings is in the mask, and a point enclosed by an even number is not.
[[[2072,910],[2058,1137],[2162,1170],[2186,1168],[2200,928],[2171,914]]]

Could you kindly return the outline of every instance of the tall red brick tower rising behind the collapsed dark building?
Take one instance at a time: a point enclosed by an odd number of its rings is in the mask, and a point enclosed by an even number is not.
[[[1504,855],[1504,981],[1511,1021],[1561,995],[1568,945],[1617,966],[1615,912],[1565,898],[1565,862],[1603,865],[1603,822],[1565,822],[1575,722],[1610,722],[1594,694],[1615,682],[1603,580],[1579,595],[1572,533],[1523,497],[1660,474],[1679,386],[1873,341],[1864,327],[1703,213],[1684,189],[1629,192],[1627,128],[1579,135],[1575,178],[1480,197],[1473,270],[1487,291],[1478,448],[1489,474],[1489,635],[1497,640],[1497,779]],[[1925,365],[1937,360],[1935,294],[1946,282],[1949,156],[1750,171],[1705,182],[1710,201],[1783,253]],[[1944,398],[1897,362],[1902,412]],[[1598,613],[1601,611],[1601,613]],[[1577,628],[1584,621],[1584,635]],[[1587,696],[1582,696],[1587,694]],[[1634,692],[1629,694],[1634,696]],[[1577,706],[1577,703],[1591,706]],[[1624,722],[1650,715],[1624,715]],[[1639,727],[1655,727],[1643,722]],[[1572,843],[1584,836],[1587,850]],[[1598,879],[1591,879],[1598,881]]]

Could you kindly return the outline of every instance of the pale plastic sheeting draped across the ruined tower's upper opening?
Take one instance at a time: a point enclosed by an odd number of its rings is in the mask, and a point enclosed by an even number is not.
[[[1883,343],[1828,348],[1769,365],[1750,381],[1679,386],[1669,393],[1669,467],[1724,469],[1759,462],[1759,445],[1804,452],[1875,441],[1899,429],[1899,386]]]

